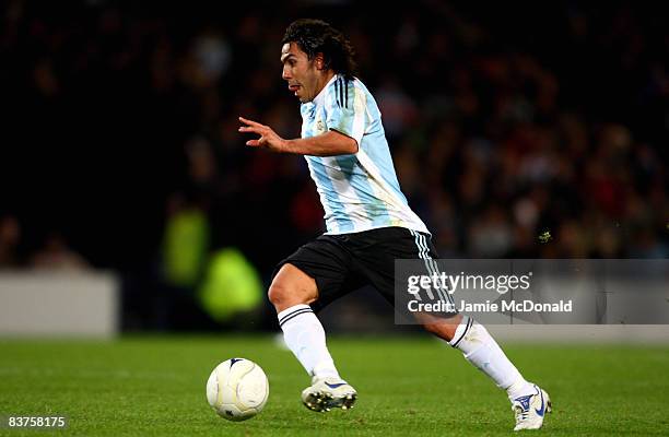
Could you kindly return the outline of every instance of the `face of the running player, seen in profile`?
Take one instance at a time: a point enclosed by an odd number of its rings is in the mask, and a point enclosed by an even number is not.
[[[318,70],[318,59],[309,60],[307,55],[295,43],[286,43],[281,48],[283,72],[281,76],[289,84],[289,90],[300,102],[312,102],[320,90],[318,85],[322,72]]]

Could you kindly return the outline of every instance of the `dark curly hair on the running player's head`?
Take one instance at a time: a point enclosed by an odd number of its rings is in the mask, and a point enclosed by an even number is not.
[[[309,60],[322,54],[324,67],[332,69],[347,80],[357,74],[353,59],[355,51],[345,36],[321,20],[302,19],[292,22],[285,29],[281,44],[295,43]]]

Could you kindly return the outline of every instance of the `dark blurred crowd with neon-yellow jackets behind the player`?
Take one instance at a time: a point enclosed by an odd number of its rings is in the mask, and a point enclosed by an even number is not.
[[[307,16],[353,43],[442,257],[669,255],[660,5],[379,8],[1,2],[0,268],[117,271],[128,329],[270,326],[262,290],[322,210],[237,116],[298,137],[279,55]]]

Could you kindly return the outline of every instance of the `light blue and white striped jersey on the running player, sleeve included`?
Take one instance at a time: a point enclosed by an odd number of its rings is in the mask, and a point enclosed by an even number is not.
[[[300,110],[302,138],[336,130],[359,145],[352,155],[305,156],[325,210],[326,234],[387,226],[429,233],[400,191],[380,111],[360,80],[336,74]]]

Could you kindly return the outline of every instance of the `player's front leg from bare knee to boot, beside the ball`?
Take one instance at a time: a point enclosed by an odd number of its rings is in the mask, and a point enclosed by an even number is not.
[[[316,281],[290,263],[279,270],[269,290],[285,344],[312,376],[312,386],[302,392],[303,403],[319,412],[348,410],[357,393],[334,367],[322,324],[309,307],[317,298]]]

